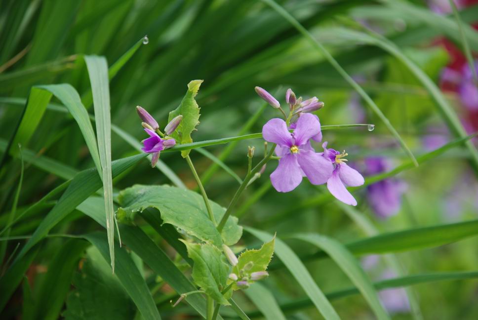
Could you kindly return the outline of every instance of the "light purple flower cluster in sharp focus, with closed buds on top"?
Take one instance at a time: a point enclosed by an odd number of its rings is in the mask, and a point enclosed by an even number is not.
[[[322,141],[320,121],[311,112],[323,107],[317,97],[302,101],[296,98],[291,89],[287,90],[285,99],[289,105],[289,114],[281,109],[280,104],[269,92],[256,87],[256,92],[271,106],[279,109],[285,120],[269,120],[262,128],[262,135],[268,142],[275,143],[279,165],[271,174],[271,182],[279,192],[290,192],[307,177],[314,185],[327,184],[327,189],[338,200],[357,205],[357,200],[346,186],[357,187],[364,183],[357,170],[345,163],[345,151],[340,153],[327,149],[327,142],[322,144],[323,152],[316,152],[311,140]]]

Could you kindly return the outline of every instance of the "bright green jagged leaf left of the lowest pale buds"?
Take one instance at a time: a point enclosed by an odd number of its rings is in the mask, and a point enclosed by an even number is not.
[[[188,248],[188,256],[194,261],[194,282],[217,303],[230,305],[221,293],[229,275],[229,265],[224,261],[221,251],[211,244],[182,241]]]

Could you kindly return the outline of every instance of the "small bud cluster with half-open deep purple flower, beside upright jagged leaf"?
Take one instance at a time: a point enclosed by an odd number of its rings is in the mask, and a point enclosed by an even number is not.
[[[159,160],[159,153],[164,149],[169,149],[176,145],[176,140],[168,135],[176,130],[181,123],[183,116],[177,116],[176,118],[172,119],[164,128],[165,133],[162,133],[159,130],[158,121],[156,121],[146,110],[140,106],[137,106],[136,112],[138,113],[139,118],[143,120],[141,124],[143,125],[144,130],[150,136],[148,139],[141,141],[144,146],[141,148],[141,150],[153,155],[151,158],[151,166],[155,167]]]

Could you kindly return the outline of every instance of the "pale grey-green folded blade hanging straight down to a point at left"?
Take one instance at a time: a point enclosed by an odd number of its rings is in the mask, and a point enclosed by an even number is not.
[[[85,56],[84,61],[93,93],[96,134],[101,161],[101,177],[105,197],[106,233],[110,245],[111,269],[115,273],[115,212],[113,208],[113,178],[111,175],[111,112],[108,63],[105,57]],[[89,120],[89,119],[88,119]],[[120,231],[118,230],[118,238]],[[121,238],[120,238],[121,246]]]

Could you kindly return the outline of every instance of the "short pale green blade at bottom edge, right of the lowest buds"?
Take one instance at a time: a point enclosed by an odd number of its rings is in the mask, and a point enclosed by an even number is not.
[[[267,320],[285,320],[274,295],[261,283],[254,283],[244,294],[257,306]]]

